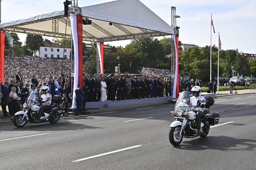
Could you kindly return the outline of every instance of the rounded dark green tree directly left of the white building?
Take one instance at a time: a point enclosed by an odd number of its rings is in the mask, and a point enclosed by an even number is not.
[[[27,37],[26,37],[27,48],[29,48],[34,53],[39,50],[39,47],[42,44],[42,42],[43,42],[43,38],[41,35],[27,34]]]

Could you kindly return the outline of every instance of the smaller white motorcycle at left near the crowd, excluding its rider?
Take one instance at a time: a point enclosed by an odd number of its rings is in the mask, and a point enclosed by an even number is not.
[[[42,98],[38,101],[32,99],[34,93],[30,92],[29,96],[23,104],[22,111],[15,113],[13,117],[13,124],[18,127],[24,127],[27,122],[30,123],[57,123],[59,121],[60,115],[64,113],[63,105],[64,99],[60,95],[54,95],[52,97],[51,109],[44,112],[42,117],[39,120],[36,118],[39,115],[40,105],[42,104]]]

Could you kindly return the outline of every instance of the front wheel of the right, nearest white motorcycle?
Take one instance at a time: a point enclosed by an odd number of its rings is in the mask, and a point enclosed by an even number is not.
[[[169,141],[173,146],[178,146],[183,139],[183,134],[180,135],[181,126],[172,127],[169,131]]]

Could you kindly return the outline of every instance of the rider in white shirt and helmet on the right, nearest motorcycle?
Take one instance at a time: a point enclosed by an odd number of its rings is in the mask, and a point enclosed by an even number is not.
[[[199,132],[200,128],[201,128],[201,120],[202,118],[205,117],[204,115],[204,105],[205,105],[205,102],[200,102],[201,100],[205,100],[205,97],[200,95],[202,92],[201,88],[199,86],[194,86],[192,87],[191,89],[191,93],[193,94],[192,97],[190,97],[186,103],[188,104],[191,104],[192,106],[199,106],[199,107],[196,107],[193,111],[196,113],[196,118],[197,118],[197,133]]]

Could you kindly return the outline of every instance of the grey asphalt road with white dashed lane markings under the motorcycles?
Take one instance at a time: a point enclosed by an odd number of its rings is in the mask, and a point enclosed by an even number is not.
[[[216,98],[210,112],[220,113],[219,125],[232,123],[179,147],[168,141],[173,106],[140,108],[0,125],[0,170],[256,169],[256,94]]]

